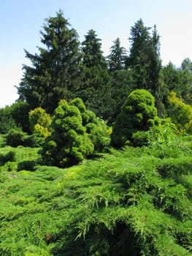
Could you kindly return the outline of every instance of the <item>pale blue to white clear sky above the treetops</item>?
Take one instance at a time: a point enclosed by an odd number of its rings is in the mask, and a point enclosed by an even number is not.
[[[64,12],[80,42],[90,29],[101,39],[104,56],[119,37],[129,50],[131,26],[142,18],[145,26],[156,25],[163,65],[176,67],[192,60],[192,0],[0,0],[0,108],[18,99],[23,64],[30,64],[24,49],[38,53],[45,19]]]

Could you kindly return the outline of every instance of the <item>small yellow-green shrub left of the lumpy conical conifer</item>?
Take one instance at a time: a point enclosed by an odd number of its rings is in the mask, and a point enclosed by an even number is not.
[[[50,133],[51,117],[41,107],[29,112],[29,124],[31,132],[37,133],[40,137],[47,138]]]

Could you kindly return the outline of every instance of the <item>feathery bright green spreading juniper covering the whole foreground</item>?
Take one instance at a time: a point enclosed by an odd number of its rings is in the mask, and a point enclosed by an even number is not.
[[[0,255],[191,255],[191,148],[188,139],[1,172]]]

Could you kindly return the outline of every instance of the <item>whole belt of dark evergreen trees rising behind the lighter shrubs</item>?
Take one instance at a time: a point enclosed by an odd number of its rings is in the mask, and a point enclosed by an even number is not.
[[[41,31],[38,53],[27,50],[31,65],[23,65],[23,78],[18,89],[18,101],[0,110],[0,132],[9,127],[22,127],[29,132],[28,113],[41,107],[53,115],[58,102],[80,97],[88,110],[111,125],[120,113],[128,95],[134,89],[147,89],[155,97],[159,117],[167,117],[167,97],[171,91],[191,102],[192,63],[184,59],[177,68],[171,62],[162,66],[160,37],[154,26],[146,27],[142,19],[131,27],[130,49],[114,40],[110,55],[104,57],[101,39],[93,29],[80,43],[63,12],[47,18]]]

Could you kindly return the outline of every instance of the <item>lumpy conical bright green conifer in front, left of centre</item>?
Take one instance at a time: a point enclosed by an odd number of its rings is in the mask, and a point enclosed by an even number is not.
[[[47,165],[74,165],[93,153],[93,143],[82,126],[82,116],[74,101],[72,105],[65,100],[59,102],[52,127],[53,133],[42,149],[42,159]]]

